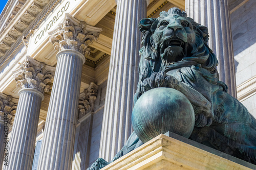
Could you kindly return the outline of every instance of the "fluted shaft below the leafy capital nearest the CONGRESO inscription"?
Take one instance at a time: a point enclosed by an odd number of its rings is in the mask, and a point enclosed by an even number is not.
[[[84,55],[75,50],[62,50],[57,54],[38,169],[71,169],[84,62]]]

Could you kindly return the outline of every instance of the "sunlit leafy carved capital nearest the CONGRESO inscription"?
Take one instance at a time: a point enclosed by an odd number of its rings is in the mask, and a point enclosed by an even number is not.
[[[66,14],[65,20],[58,25],[58,28],[51,33],[49,38],[55,50],[76,50],[81,54],[90,54],[89,44],[92,44],[99,37],[102,29],[89,26],[84,21],[79,21]]]

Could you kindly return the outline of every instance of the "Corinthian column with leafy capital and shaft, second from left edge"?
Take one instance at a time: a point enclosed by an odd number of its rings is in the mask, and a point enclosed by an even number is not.
[[[49,71],[48,71],[49,70]],[[19,100],[10,138],[8,166],[4,169],[31,169],[35,138],[44,92],[53,82],[54,67],[28,57],[15,75]]]

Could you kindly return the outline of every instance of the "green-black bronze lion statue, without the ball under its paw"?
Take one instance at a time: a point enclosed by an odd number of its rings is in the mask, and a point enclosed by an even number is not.
[[[219,81],[218,60],[207,45],[208,29],[178,8],[163,11],[158,18],[142,19],[139,29],[143,46],[134,102],[153,88],[180,91],[195,112],[190,139],[256,164],[256,119]],[[111,162],[142,144],[132,133]],[[88,169],[109,163],[99,158]]]

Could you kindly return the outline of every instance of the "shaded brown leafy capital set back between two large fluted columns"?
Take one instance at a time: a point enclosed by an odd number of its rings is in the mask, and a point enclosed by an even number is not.
[[[91,83],[88,89],[80,94],[78,105],[78,119],[82,118],[89,112],[94,112],[94,102],[97,99],[98,85]]]

